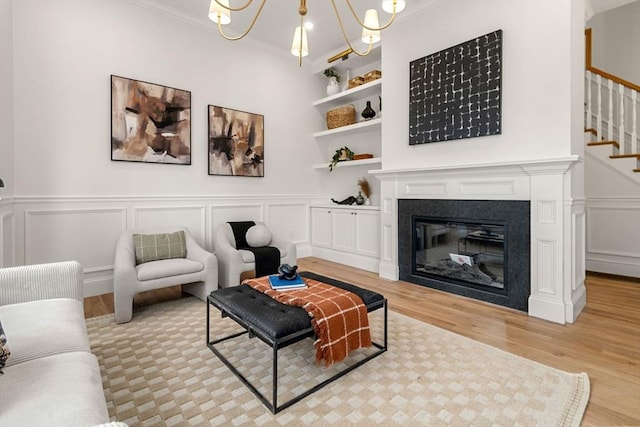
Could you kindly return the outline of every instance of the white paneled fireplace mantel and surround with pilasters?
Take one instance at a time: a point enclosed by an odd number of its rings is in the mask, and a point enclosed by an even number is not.
[[[529,200],[529,314],[573,323],[586,304],[584,200],[571,198],[569,156],[369,171],[381,182],[380,276],[398,280],[398,199]]]

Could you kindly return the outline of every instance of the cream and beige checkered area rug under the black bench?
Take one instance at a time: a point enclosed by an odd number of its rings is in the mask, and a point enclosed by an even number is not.
[[[211,314],[216,336],[238,330],[216,309]],[[143,307],[126,324],[116,324],[113,315],[87,320],[111,420],[130,426],[577,426],[589,399],[584,373],[389,311],[386,353],[273,415],[207,348],[205,322],[206,304],[193,297]],[[381,340],[381,325],[378,310],[374,340]],[[254,385],[270,390],[270,347],[243,335],[225,351]],[[313,355],[310,339],[282,350],[283,393],[331,374]]]

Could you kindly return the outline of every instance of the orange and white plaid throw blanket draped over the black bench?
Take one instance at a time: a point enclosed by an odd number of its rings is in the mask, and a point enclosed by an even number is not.
[[[269,277],[247,279],[243,284],[283,304],[304,308],[316,333],[316,361],[325,366],[339,362],[358,348],[371,347],[367,307],[352,292],[317,280],[303,278],[306,289],[277,291]]]

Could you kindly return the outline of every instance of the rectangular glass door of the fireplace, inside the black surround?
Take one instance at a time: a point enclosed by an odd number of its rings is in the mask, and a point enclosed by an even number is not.
[[[499,291],[505,283],[505,226],[414,217],[414,274]]]

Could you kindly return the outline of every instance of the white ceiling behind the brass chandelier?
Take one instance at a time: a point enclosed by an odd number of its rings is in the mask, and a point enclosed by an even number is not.
[[[137,1],[148,7],[173,14],[202,26],[207,26],[207,28],[211,28],[212,31],[217,33],[216,24],[211,22],[207,17],[210,0]],[[230,3],[232,7],[238,7],[239,5],[245,4],[246,1],[247,0],[231,0]],[[406,0],[407,6],[397,15],[396,22],[402,22],[442,1],[443,0]],[[260,3],[260,0],[255,0],[247,10],[233,12],[232,22],[223,27],[224,31],[231,35],[242,33],[251,23]],[[300,22],[298,15],[299,4],[300,2],[298,0],[267,1],[255,27],[249,35],[241,41],[229,43],[242,43],[243,41],[251,40],[253,43],[291,56],[290,50],[293,32]],[[346,1],[335,0],[335,4],[340,12],[349,40],[359,40],[362,30],[352,16]],[[378,10],[381,25],[386,23],[391,16],[382,10],[382,0],[351,0],[351,4],[360,20],[364,19],[365,10],[371,8]],[[304,58],[304,61],[307,63],[323,61],[324,64],[326,64],[326,59],[329,56],[343,51],[347,48],[347,44],[338,26],[338,21],[330,0],[307,0],[307,10],[305,22],[313,22],[314,29],[308,31],[310,53],[309,56]],[[382,37],[384,38],[384,31]]]

